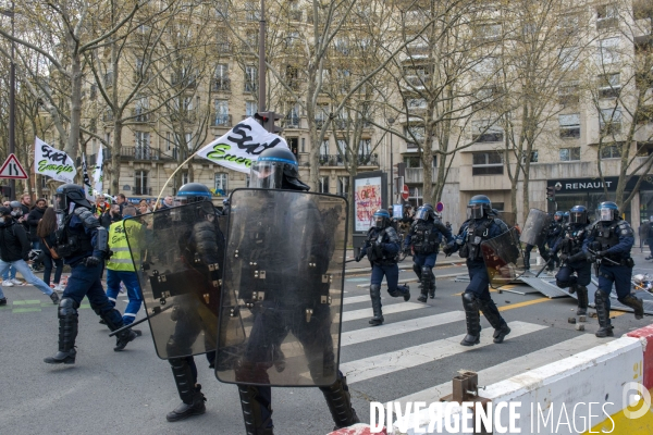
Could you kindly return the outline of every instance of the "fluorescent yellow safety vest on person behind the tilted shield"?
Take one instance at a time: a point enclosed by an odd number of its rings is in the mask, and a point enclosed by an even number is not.
[[[125,237],[125,231],[130,234],[130,243]],[[137,222],[120,221],[112,223],[109,227],[109,249],[113,251],[113,256],[107,262],[107,269],[136,272],[134,263],[140,266],[140,248],[138,246],[141,235],[143,225]]]

